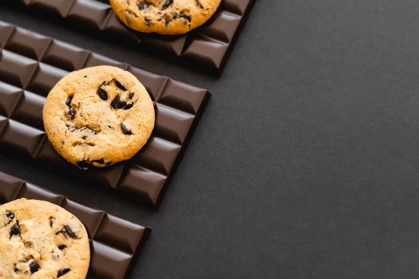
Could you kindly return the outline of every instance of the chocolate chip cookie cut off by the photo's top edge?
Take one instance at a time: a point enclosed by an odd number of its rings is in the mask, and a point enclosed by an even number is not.
[[[164,35],[183,34],[214,15],[221,0],[110,0],[119,20],[131,29]]]

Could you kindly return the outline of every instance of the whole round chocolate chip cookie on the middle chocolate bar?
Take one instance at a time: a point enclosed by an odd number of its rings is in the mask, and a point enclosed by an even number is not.
[[[154,117],[152,99],[141,82],[112,66],[69,73],[43,107],[52,146],[81,169],[134,156],[152,134]]]

